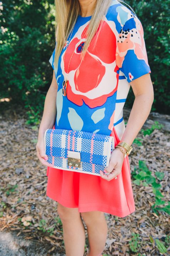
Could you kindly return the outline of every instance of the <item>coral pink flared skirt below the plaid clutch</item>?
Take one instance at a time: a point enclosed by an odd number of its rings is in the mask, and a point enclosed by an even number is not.
[[[119,143],[113,127],[110,136]],[[135,211],[128,156],[124,158],[118,179],[104,180],[101,176],[47,167],[46,195],[63,206],[79,212],[102,211],[125,217]]]

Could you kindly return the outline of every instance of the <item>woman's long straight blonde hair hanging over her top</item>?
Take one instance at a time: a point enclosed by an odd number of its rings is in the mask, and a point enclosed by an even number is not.
[[[108,8],[112,0],[96,0],[96,5],[89,22],[87,30],[87,39],[86,43],[83,46],[82,53],[80,55],[81,60],[84,59],[84,55],[89,47],[91,40],[97,32],[98,26],[101,22],[98,34],[101,30],[103,23],[103,15],[108,11]],[[124,4],[124,1],[118,0]],[[128,5],[128,4],[127,4]],[[129,5],[128,5],[129,6]],[[61,51],[65,45],[65,42],[68,39],[69,33],[71,32],[74,22],[76,22],[78,15],[80,14],[80,5],[78,0],[55,0],[56,15],[55,15],[55,37],[56,37],[56,50],[55,50],[55,59],[54,66],[57,66],[58,58],[61,54]],[[129,8],[134,12],[132,7]],[[134,12],[135,14],[135,12]],[[97,34],[97,37],[98,37]],[[97,41],[97,38],[96,38]],[[94,44],[95,46],[95,44]]]

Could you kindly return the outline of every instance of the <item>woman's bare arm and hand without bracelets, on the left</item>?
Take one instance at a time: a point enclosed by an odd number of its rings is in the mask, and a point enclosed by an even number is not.
[[[52,129],[56,119],[56,97],[57,97],[58,85],[55,77],[55,72],[53,71],[53,78],[48,89],[44,110],[42,115],[42,120],[38,132],[38,141],[36,145],[37,157],[42,162],[43,165],[51,166],[45,160],[47,159],[47,155],[44,152],[44,134],[47,129]]]

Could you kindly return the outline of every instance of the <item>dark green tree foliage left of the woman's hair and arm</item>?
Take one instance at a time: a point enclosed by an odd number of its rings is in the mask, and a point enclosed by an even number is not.
[[[55,46],[53,1],[3,1],[0,16],[0,97],[27,109],[27,124],[39,124]]]

